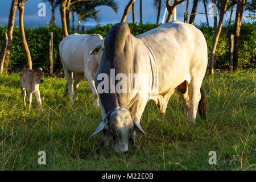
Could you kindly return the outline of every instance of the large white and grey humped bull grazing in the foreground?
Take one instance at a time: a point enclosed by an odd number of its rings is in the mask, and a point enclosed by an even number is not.
[[[192,24],[165,23],[135,37],[127,23],[115,24],[105,37],[95,77],[104,120],[90,138],[103,130],[102,144],[108,146],[112,137],[115,152],[127,152],[128,141],[135,142],[135,131],[145,135],[139,122],[148,100],[154,100],[165,114],[175,90],[183,100],[187,122],[195,123],[198,105],[205,117],[201,85],[207,59],[204,35]],[[141,76],[131,79],[136,74]],[[125,88],[132,91],[119,92]]]

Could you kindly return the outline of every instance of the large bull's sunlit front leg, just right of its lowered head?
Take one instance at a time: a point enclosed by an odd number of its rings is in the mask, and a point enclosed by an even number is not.
[[[141,121],[141,116],[146,105],[147,105],[146,98],[140,98],[139,100],[134,102],[133,106],[130,109],[131,114],[133,114],[132,117],[133,117],[134,123],[139,123]],[[129,138],[129,141],[131,141],[133,145],[135,145],[135,133],[136,133],[136,130],[134,129]]]

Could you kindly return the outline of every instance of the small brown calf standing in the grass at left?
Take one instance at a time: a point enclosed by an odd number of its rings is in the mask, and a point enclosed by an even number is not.
[[[44,82],[42,68],[37,68],[34,70],[26,68],[20,74],[19,86],[20,86],[20,89],[22,90],[24,107],[26,107],[26,94],[27,94],[28,109],[30,109],[31,101],[32,101],[32,93],[34,93],[36,96],[36,100],[38,100],[40,109],[43,110],[42,100],[40,98],[40,92],[39,92],[39,84],[42,82]]]

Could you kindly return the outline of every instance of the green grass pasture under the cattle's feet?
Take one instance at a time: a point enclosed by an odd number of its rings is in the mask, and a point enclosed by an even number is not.
[[[256,170],[255,70],[217,73],[204,78],[208,100],[207,119],[185,123],[184,109],[176,93],[166,116],[148,102],[141,125],[146,138],[127,154],[115,154],[111,142],[98,151],[102,134],[88,137],[102,121],[93,107],[86,81],[79,86],[79,100],[71,105],[63,97],[65,78],[44,77],[40,93],[44,110],[35,96],[25,110],[19,74],[0,76],[1,170]],[[38,152],[46,152],[46,165],[38,164]],[[210,165],[209,151],[217,164]]]

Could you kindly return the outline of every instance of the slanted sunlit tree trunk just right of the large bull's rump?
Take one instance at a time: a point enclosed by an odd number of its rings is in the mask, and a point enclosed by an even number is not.
[[[214,54],[215,54],[215,51],[216,51],[218,38],[220,37],[220,33],[221,33],[221,29],[222,29],[222,23],[223,23],[224,15],[226,13],[226,7],[227,7],[229,1],[230,0],[224,0],[222,2],[222,5],[221,5],[222,10],[221,10],[221,14],[220,14],[220,20],[218,21],[218,29],[217,29],[216,34],[215,34],[214,39],[213,39],[212,49],[210,50],[209,73],[211,75],[214,74],[214,72],[213,72]]]

